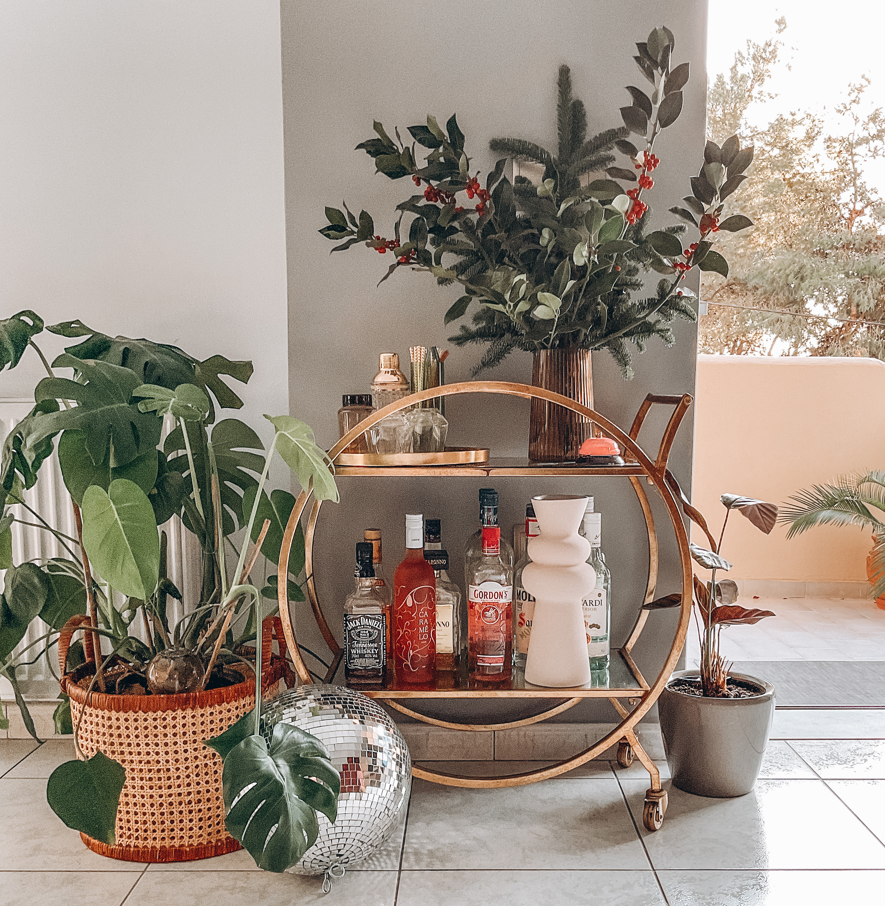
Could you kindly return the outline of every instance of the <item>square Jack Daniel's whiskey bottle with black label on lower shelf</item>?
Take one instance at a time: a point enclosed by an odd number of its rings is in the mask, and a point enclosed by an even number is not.
[[[357,544],[357,587],[344,601],[344,675],[349,685],[383,685],[387,672],[384,602],[375,584],[371,545]]]

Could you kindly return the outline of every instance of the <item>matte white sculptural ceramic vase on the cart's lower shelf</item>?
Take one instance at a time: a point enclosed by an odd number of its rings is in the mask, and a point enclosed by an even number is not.
[[[523,571],[523,587],[535,601],[525,660],[525,681],[534,686],[564,689],[590,682],[581,603],[596,584],[596,572],[586,562],[590,542],[578,535],[587,499],[532,498],[541,534],[529,539],[532,563]]]

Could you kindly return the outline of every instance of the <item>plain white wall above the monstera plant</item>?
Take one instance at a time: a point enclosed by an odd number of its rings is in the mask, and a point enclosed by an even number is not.
[[[234,386],[273,437],[262,413],[288,411],[282,116],[276,0],[4,0],[0,313],[252,359]],[[0,396],[31,396],[35,361],[4,371]]]

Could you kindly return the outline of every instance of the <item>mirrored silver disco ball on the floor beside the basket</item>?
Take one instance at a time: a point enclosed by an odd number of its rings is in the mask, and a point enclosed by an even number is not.
[[[322,874],[365,859],[387,840],[409,801],[412,763],[397,725],[374,701],[341,686],[288,689],[262,712],[268,745],[276,724],[293,724],[322,742],[341,774],[335,823],[317,813],[320,834],[292,871]]]

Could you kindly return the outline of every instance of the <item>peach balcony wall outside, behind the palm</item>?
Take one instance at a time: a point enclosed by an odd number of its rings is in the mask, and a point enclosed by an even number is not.
[[[692,501],[714,535],[723,493],[781,506],[803,487],[885,468],[885,362],[876,359],[697,357]],[[698,537],[700,535],[700,537]],[[693,540],[706,541],[694,528]],[[870,534],[825,525],[786,540],[728,520],[722,554],[736,579],[865,581]]]

